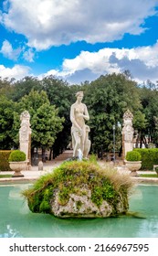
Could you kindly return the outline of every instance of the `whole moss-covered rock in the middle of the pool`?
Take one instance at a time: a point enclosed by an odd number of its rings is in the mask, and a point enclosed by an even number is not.
[[[25,190],[28,207],[60,218],[105,218],[126,213],[130,176],[89,161],[60,165]]]

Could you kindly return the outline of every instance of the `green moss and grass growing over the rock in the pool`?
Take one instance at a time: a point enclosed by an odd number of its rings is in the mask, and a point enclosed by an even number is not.
[[[112,206],[127,197],[132,181],[128,176],[118,175],[116,170],[101,169],[99,165],[90,161],[65,162],[54,172],[41,176],[33,187],[25,190],[23,195],[27,198],[28,206],[33,212],[51,212],[50,201],[58,191],[58,204],[65,205],[69,194],[81,193],[79,187],[89,187],[91,200],[100,207],[103,200],[107,200]],[[83,195],[85,191],[82,191]],[[80,195],[80,194],[79,194]],[[79,202],[78,208],[81,207]],[[124,200],[128,207],[127,200]],[[117,214],[116,209],[114,214]]]

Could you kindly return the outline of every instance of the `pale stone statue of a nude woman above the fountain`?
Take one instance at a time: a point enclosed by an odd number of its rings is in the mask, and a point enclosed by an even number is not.
[[[86,158],[90,151],[90,140],[88,136],[90,127],[85,124],[85,120],[89,120],[90,115],[87,106],[81,102],[83,91],[78,91],[76,97],[77,101],[70,108],[73,156],[78,156],[78,150],[80,149],[83,157]]]

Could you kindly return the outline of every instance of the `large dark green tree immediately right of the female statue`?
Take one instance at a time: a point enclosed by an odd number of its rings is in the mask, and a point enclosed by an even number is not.
[[[85,89],[85,101],[90,110],[90,140],[92,151],[109,151],[113,134],[112,126],[122,123],[123,113],[133,114],[142,108],[135,81],[124,74],[100,76]],[[116,143],[119,138],[116,133]]]

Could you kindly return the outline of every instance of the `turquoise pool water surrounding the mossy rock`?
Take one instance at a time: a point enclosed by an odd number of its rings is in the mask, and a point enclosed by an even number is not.
[[[24,238],[153,238],[158,237],[158,186],[139,185],[130,211],[145,219],[58,219],[32,213],[20,192],[28,184],[0,185],[0,237]]]

